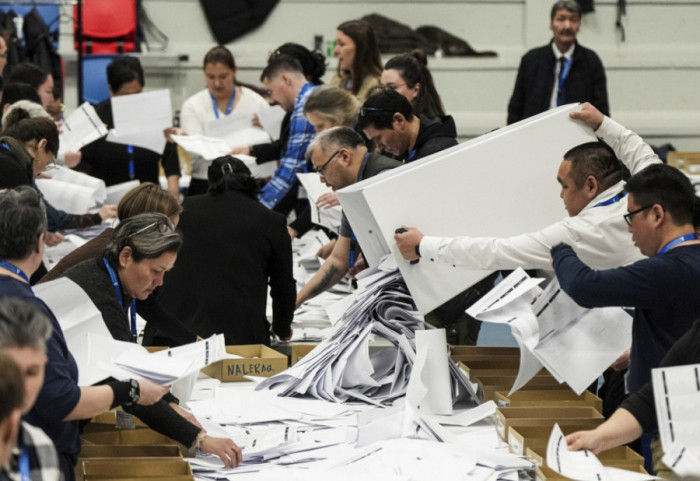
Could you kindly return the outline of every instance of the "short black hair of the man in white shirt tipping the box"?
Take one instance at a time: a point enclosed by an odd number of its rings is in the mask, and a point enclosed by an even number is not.
[[[582,188],[589,175],[598,179],[601,192],[622,180],[622,163],[605,142],[586,142],[570,149],[564,160],[571,162],[571,178]]]

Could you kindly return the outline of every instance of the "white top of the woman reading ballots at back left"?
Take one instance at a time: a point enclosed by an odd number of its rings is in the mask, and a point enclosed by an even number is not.
[[[270,107],[270,104],[253,90],[247,87],[239,87],[238,102],[231,113],[250,114]],[[217,108],[218,110],[218,108]],[[223,118],[224,112],[219,111],[219,117]],[[189,135],[204,135],[204,127],[209,122],[216,120],[214,105],[208,89],[201,90],[185,100],[180,112],[180,127]],[[207,168],[211,161],[205,160],[199,155],[192,155],[192,178],[207,179]]]

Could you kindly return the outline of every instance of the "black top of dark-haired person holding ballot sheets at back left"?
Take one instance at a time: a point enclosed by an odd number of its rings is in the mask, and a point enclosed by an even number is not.
[[[108,129],[114,128],[111,99],[97,104],[95,111]],[[107,142],[106,137],[102,137],[83,147],[82,153],[83,158],[76,170],[98,177],[104,180],[107,185],[131,180],[129,177],[129,153],[126,145]],[[166,143],[162,158],[166,176],[180,175],[180,164],[175,144]],[[141,147],[134,147],[134,178],[141,182],[158,184],[158,163],[160,160],[159,154]]]

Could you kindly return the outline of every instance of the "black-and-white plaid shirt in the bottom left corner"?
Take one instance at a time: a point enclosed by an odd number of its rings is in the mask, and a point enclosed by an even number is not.
[[[58,465],[58,455],[51,439],[41,429],[22,421],[17,435],[17,445],[12,450],[9,470],[3,475],[16,481],[21,481],[19,458],[22,449],[29,454],[29,477],[31,481],[63,481]]]

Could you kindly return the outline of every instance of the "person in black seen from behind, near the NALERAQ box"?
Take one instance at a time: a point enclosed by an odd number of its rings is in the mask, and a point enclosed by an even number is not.
[[[185,199],[184,243],[158,301],[200,336],[223,333],[226,344],[269,345],[269,285],[272,330],[288,339],[296,285],[286,219],[258,202],[258,184],[239,159],[215,159],[208,176],[209,192]]]

